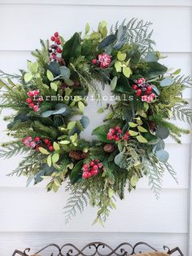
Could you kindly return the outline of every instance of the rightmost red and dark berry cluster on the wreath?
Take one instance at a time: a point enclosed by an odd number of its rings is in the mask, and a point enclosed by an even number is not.
[[[146,82],[145,78],[139,78],[133,86],[136,95],[142,98],[142,101],[151,102],[155,98],[155,93],[150,83]]]

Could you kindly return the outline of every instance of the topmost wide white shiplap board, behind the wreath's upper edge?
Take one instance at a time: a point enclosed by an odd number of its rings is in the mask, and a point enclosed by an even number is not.
[[[49,38],[50,33],[55,30],[59,30],[64,38],[69,38],[73,32],[84,30],[87,21],[96,28],[98,21],[102,18],[111,25],[115,24],[116,20],[121,21],[124,18],[136,16],[138,19],[151,20],[154,23],[151,29],[155,29],[154,38],[159,51],[191,52],[190,13],[190,8],[184,7],[145,9],[111,6],[109,11],[107,6],[93,8],[91,6],[5,4],[0,9],[0,22],[3,24],[0,33],[6,34],[7,40],[0,41],[0,49],[31,51],[38,46],[39,38]],[[20,14],[19,19],[18,14]],[[45,18],[42,14],[45,14]],[[15,29],[13,29],[13,23],[7,22],[7,15],[14,20]],[[56,20],[50,19],[53,15],[57,16]],[[185,17],[185,19],[180,20],[177,17]]]

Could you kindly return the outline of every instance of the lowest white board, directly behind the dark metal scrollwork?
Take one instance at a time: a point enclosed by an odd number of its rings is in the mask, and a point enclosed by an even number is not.
[[[121,225],[121,224],[120,224]],[[58,245],[65,243],[73,243],[80,249],[85,244],[93,241],[106,242],[111,247],[116,247],[120,243],[129,242],[135,244],[136,241],[150,241],[151,245],[156,249],[162,250],[162,245],[168,245],[174,248],[178,245],[186,255],[186,234],[165,234],[165,233],[129,233],[129,232],[0,232],[0,254],[1,256],[12,255],[15,248],[25,249],[30,246],[31,254],[54,242]],[[140,247],[139,249],[146,249]],[[43,256],[50,256],[50,249],[46,250]]]

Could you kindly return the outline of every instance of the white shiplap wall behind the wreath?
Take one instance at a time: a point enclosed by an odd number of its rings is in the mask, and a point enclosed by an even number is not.
[[[163,63],[190,74],[191,6],[191,0],[0,0],[0,69],[12,73],[25,68],[25,60],[39,46],[39,38],[49,38],[56,30],[68,38],[87,21],[95,28],[99,20],[114,24],[135,16],[154,23],[157,49],[168,55]],[[184,97],[190,100],[190,90]],[[5,127],[1,118],[1,130]],[[5,139],[2,132],[0,139]],[[122,241],[146,241],[158,249],[164,244],[178,245],[187,255],[192,243],[187,214],[190,147],[190,136],[183,136],[182,145],[168,140],[170,163],[177,170],[179,184],[166,174],[164,190],[156,201],[143,180],[126,201],[117,201],[117,210],[111,213],[105,228],[91,226],[95,211],[89,208],[65,226],[63,205],[67,195],[62,190],[47,194],[44,184],[25,188],[24,178],[6,176],[20,157],[1,160],[0,256],[10,256],[15,248],[28,246],[35,251],[50,242],[73,242],[81,247],[96,240],[113,246]]]

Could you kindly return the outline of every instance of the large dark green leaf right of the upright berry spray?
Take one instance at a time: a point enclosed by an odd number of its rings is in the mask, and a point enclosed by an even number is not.
[[[81,55],[81,38],[79,33],[74,33],[72,38],[70,38],[63,45],[62,58],[66,63],[70,59],[77,59]]]

